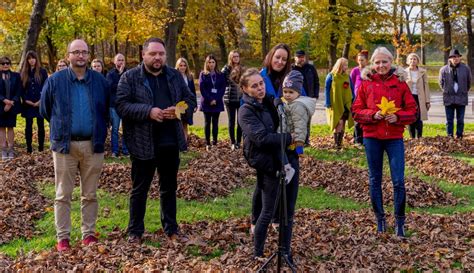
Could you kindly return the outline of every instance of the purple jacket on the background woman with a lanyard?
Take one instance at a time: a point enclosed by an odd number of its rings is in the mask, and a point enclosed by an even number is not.
[[[227,80],[224,74],[217,72],[213,74],[199,75],[199,89],[201,91],[201,111],[203,112],[222,112],[224,111],[224,92]],[[214,89],[214,90],[213,90]],[[211,101],[215,100],[216,104],[211,105]]]

